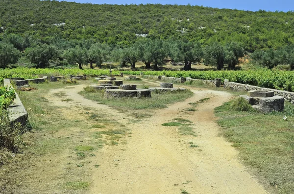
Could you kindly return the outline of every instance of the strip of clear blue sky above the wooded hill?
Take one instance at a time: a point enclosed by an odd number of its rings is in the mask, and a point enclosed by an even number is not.
[[[59,0],[64,1],[64,0]],[[79,3],[93,4],[178,4],[178,5],[203,5],[205,7],[229,8],[239,10],[258,11],[290,11],[294,10],[294,0],[65,0]]]

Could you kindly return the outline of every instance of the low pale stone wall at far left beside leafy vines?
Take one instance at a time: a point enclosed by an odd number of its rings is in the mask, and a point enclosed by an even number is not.
[[[4,86],[12,86],[10,79],[4,79]],[[28,114],[25,110],[25,107],[19,98],[18,94],[15,92],[16,98],[13,101],[13,104],[8,108],[9,120],[14,125],[14,123],[21,123],[23,126],[27,123]]]

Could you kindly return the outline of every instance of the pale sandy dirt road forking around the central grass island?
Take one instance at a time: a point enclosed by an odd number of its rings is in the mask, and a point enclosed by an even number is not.
[[[249,174],[238,160],[236,151],[219,135],[214,108],[228,101],[230,94],[208,89],[192,89],[195,95],[168,108],[156,110],[155,115],[139,123],[130,123],[124,113],[109,111],[77,94],[82,85],[67,89],[72,103],[91,106],[99,112],[111,112],[110,118],[119,119],[131,129],[127,144],[105,146],[96,151],[99,168],[92,170],[89,194],[267,194],[263,186]],[[50,93],[58,92],[52,90]],[[184,112],[189,103],[209,97],[195,112]],[[58,102],[55,105],[67,102]],[[164,127],[174,118],[193,122],[197,136],[184,136],[177,127]],[[191,148],[190,143],[198,145]]]

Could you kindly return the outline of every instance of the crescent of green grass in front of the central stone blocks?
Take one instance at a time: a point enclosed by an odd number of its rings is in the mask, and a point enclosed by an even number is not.
[[[81,91],[81,95],[93,101],[97,101],[100,104],[110,105],[114,108],[127,108],[127,109],[150,109],[150,108],[166,108],[167,105],[183,101],[191,96],[193,92],[181,91],[181,92],[165,92],[161,94],[151,93],[151,98],[117,98],[107,99],[104,98],[103,91],[86,92]]]

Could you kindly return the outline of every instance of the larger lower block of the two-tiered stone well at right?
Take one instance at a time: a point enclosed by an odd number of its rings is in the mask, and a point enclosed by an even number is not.
[[[259,101],[259,105],[254,105],[252,107],[264,113],[269,113],[272,111],[283,111],[284,97],[273,96],[269,98],[261,98]]]

